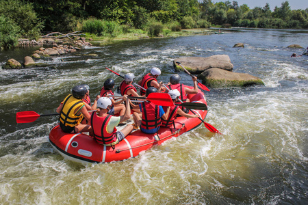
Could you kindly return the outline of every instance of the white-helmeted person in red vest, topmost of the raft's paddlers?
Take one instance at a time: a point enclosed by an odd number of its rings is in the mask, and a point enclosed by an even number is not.
[[[158,83],[157,82],[157,77],[159,74],[162,72],[160,71],[159,68],[152,68],[151,72],[146,74],[139,82],[138,85],[144,87],[145,89],[148,89],[149,87],[156,87],[157,92],[160,92],[160,90],[164,90],[164,87],[162,87],[162,82]],[[140,89],[140,95],[144,96],[145,91],[143,89]]]

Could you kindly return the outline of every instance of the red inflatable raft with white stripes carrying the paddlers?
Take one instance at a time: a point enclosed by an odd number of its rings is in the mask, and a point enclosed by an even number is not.
[[[190,102],[207,104],[201,91],[195,95],[188,95],[188,98],[190,98]],[[194,110],[194,112],[203,120],[207,115],[207,110]],[[114,149],[100,145],[93,137],[85,133],[64,133],[57,124],[49,133],[49,141],[53,148],[65,159],[79,163],[108,163],[137,156],[143,150],[159,145],[171,137],[179,137],[179,135],[191,131],[202,123],[198,118],[180,116],[175,119],[175,128],[161,127],[155,134],[142,133],[140,130],[134,131],[125,137],[123,141],[116,144]]]

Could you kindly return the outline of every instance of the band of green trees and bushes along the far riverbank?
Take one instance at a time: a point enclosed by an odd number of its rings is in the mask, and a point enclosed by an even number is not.
[[[211,0],[0,1],[1,49],[53,32],[81,31],[87,39],[111,42],[188,36],[210,27],[308,29],[308,8],[291,10],[288,1],[274,10],[269,3],[251,9],[237,1]]]

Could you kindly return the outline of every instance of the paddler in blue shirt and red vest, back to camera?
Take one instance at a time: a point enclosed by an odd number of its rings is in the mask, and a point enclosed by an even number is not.
[[[146,96],[149,96],[152,92],[157,92],[156,87],[146,89]],[[150,101],[144,101],[136,107],[141,111],[141,117],[140,113],[133,113],[133,121],[140,126],[140,130],[144,133],[157,133],[162,123],[161,119],[168,119],[170,107],[167,107],[165,112],[162,106],[155,105]]]

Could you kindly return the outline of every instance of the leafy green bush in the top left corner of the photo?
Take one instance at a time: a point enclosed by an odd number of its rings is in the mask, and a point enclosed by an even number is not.
[[[43,22],[38,19],[31,3],[19,0],[0,1],[0,14],[17,25],[21,35],[26,38],[36,39],[40,36]]]

